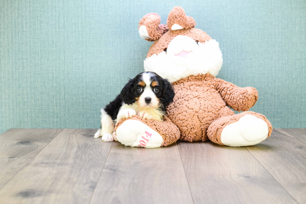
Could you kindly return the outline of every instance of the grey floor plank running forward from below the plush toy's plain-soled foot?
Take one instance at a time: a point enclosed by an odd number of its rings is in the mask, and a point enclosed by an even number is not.
[[[178,142],[194,202],[296,203],[244,148]]]

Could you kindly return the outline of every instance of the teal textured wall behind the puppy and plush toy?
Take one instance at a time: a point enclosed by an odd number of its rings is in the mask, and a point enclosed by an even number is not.
[[[252,86],[275,128],[306,127],[306,1],[0,1],[0,133],[98,128],[100,108],[143,71],[138,22],[182,6],[220,43],[219,78]]]

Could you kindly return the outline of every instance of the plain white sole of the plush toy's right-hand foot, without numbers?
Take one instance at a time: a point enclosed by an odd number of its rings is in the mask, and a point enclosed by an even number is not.
[[[221,142],[232,147],[250,146],[262,142],[268,133],[268,125],[264,120],[245,115],[222,130]]]

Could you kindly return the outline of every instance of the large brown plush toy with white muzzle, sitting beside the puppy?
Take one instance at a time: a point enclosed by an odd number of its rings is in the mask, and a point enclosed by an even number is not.
[[[207,141],[233,147],[255,145],[271,135],[262,114],[248,111],[258,99],[253,87],[240,88],[216,78],[222,63],[219,43],[195,28],[195,20],[174,7],[167,24],[156,13],[139,22],[139,34],[154,41],[144,60],[145,71],[172,82],[174,102],[164,121],[141,117],[121,120],[116,138],[126,146],[161,147],[177,140]],[[229,107],[236,111],[234,114]]]

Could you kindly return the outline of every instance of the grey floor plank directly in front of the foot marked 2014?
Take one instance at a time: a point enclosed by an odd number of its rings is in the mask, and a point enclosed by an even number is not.
[[[114,143],[90,203],[193,203],[177,144]]]

